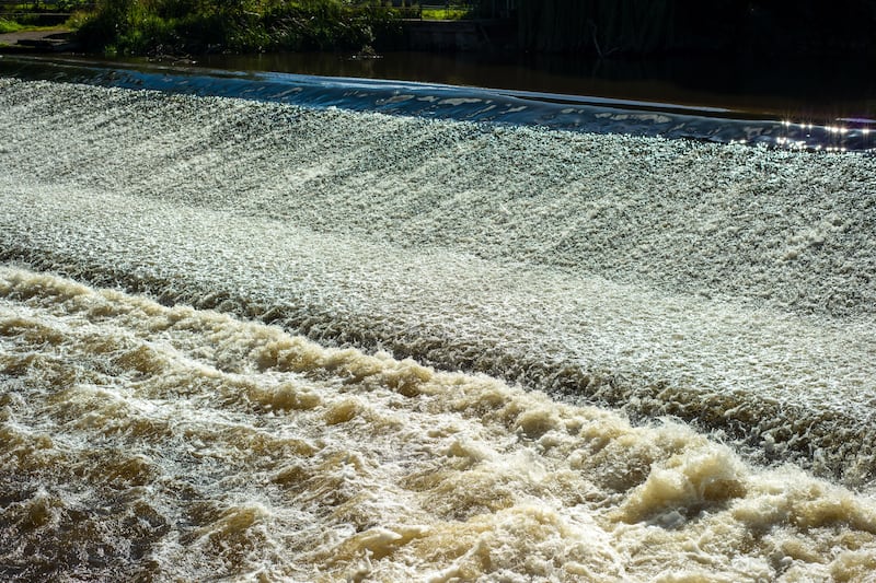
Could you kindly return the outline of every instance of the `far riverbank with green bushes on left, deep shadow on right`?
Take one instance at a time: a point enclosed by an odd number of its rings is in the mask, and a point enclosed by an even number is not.
[[[626,3],[518,0],[427,11],[384,3],[292,0],[191,3],[103,0],[70,23],[82,49],[106,55],[246,54],[306,50],[453,50],[567,54],[583,58],[712,56],[876,59],[876,12],[864,0],[793,9],[751,2]],[[690,4],[690,5],[689,5]],[[499,18],[500,16],[500,18]],[[705,25],[705,23],[711,23]]]

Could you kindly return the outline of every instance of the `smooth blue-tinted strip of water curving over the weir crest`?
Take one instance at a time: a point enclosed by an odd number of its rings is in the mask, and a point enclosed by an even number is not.
[[[34,57],[0,58],[0,74],[558,130],[688,138],[799,150],[876,151],[876,121],[867,118],[846,118],[832,124],[758,119],[757,116],[716,107],[642,101]]]

